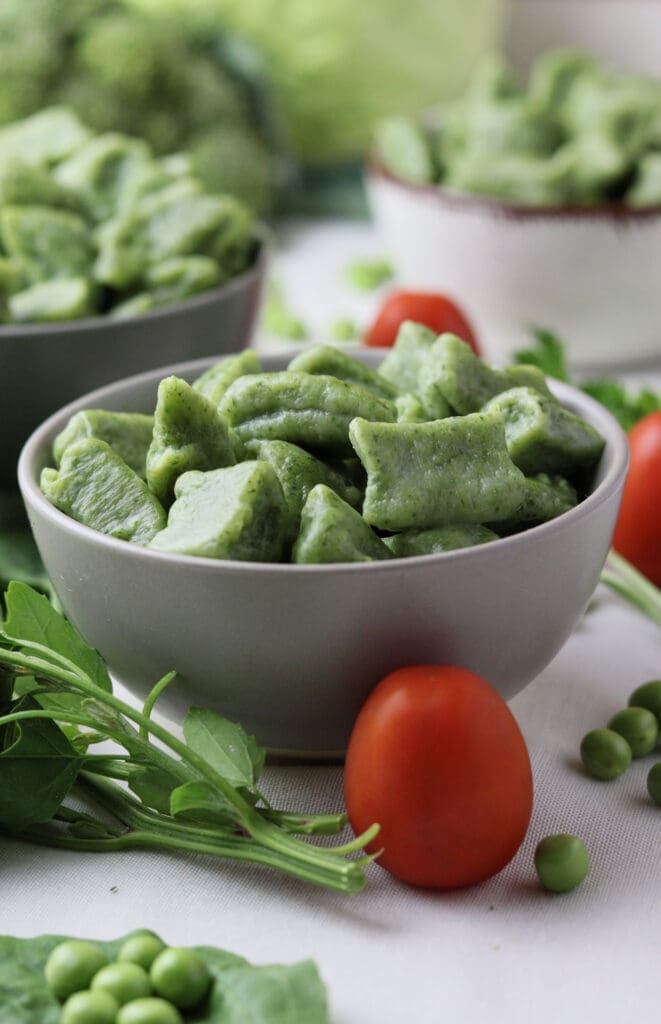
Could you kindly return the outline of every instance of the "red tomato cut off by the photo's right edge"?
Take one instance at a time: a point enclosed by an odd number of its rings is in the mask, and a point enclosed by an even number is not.
[[[629,472],[613,547],[661,587],[661,412],[629,430]]]

